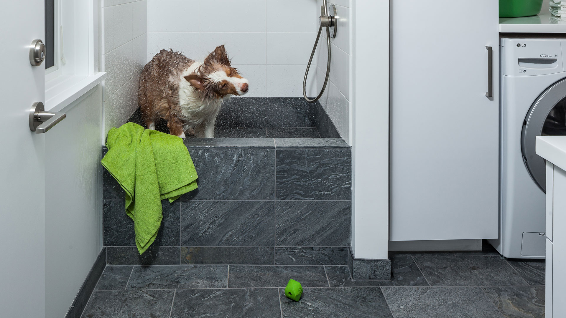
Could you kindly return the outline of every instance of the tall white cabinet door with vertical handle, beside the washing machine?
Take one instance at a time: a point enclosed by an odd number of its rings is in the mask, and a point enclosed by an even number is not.
[[[390,239],[497,238],[498,2],[391,6]]]

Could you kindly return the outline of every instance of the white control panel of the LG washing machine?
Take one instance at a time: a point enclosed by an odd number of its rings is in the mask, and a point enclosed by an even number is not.
[[[563,50],[566,39],[501,38],[503,75],[532,76],[564,71]]]

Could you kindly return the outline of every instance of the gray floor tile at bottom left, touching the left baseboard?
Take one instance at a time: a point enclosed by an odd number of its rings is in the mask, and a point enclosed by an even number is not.
[[[173,290],[96,290],[82,317],[168,317]]]

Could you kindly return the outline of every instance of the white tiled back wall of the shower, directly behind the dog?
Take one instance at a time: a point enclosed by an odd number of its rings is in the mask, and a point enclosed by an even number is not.
[[[160,49],[201,60],[224,44],[250,80],[246,97],[303,96],[318,30],[316,0],[147,0],[147,61]],[[315,70],[307,93],[315,91]]]

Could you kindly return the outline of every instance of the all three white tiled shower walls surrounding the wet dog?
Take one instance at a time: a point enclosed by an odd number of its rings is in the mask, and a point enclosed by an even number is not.
[[[332,39],[331,77],[320,102],[349,141],[351,0],[330,3],[337,5],[340,19],[337,37]],[[301,97],[321,4],[315,0],[102,0],[101,62],[109,74],[104,84],[106,131],[135,110],[140,71],[160,49],[202,60],[224,44],[233,65],[250,80],[247,97]],[[309,96],[315,96],[324,83],[325,36],[323,32],[312,61]]]

